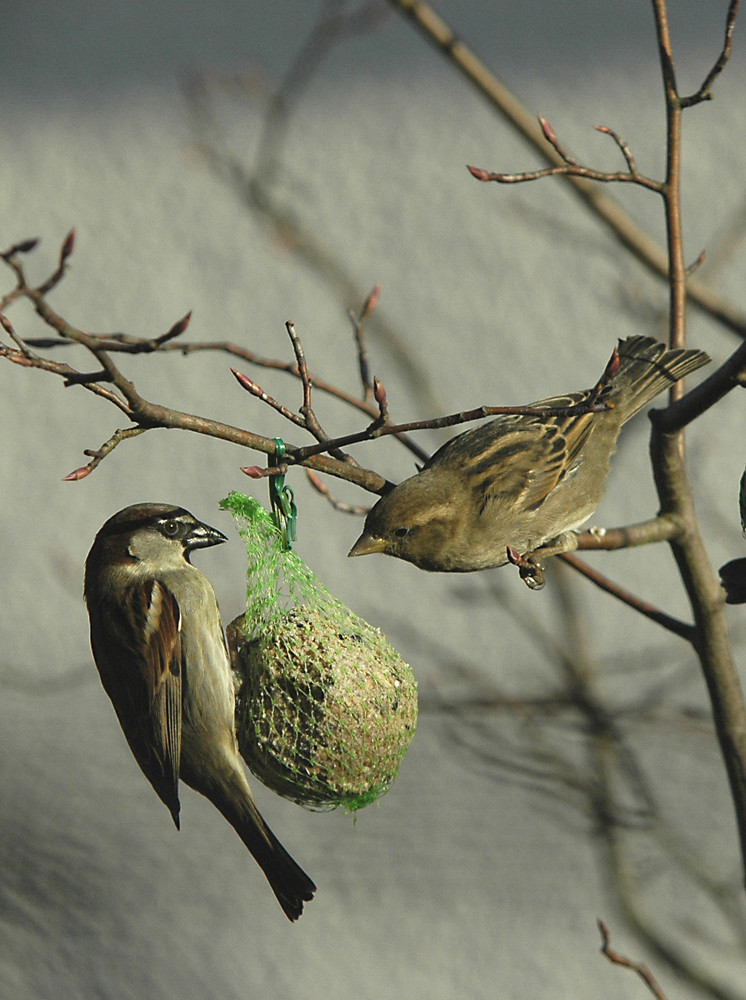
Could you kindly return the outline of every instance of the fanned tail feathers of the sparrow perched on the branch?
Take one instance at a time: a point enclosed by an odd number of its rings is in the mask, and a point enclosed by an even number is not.
[[[628,337],[620,341],[618,351],[619,368],[611,376],[606,392],[620,407],[623,421],[633,417],[658,393],[710,361],[704,351],[669,349],[652,337]]]

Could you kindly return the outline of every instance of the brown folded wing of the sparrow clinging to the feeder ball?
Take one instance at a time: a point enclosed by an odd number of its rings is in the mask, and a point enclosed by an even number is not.
[[[184,662],[176,598],[155,579],[128,587],[92,618],[91,642],[130,749],[178,826]]]

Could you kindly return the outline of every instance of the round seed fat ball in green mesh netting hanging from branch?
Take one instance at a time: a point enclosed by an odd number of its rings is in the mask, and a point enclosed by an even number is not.
[[[228,626],[241,755],[285,798],[361,809],[386,791],[414,737],[412,670],[284,548],[261,504],[231,493],[220,506],[249,559],[246,614]]]

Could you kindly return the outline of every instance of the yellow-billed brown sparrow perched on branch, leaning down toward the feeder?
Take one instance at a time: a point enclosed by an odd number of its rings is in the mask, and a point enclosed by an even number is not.
[[[622,424],[709,360],[650,337],[620,341],[594,389],[531,404],[546,417],[500,416],[448,441],[381,497],[349,554],[384,552],[456,573],[509,560],[525,567],[542,547],[538,557],[573,548],[571,532],[601,500]],[[609,409],[551,413],[589,400]]]

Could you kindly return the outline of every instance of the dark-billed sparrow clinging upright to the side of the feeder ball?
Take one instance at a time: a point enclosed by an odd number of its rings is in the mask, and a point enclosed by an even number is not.
[[[135,504],[111,517],[86,560],[91,647],[135,760],[177,828],[181,779],[225,816],[297,920],[316,886],[252,799],[215,591],[189,561],[194,549],[224,541],[170,504]]]

